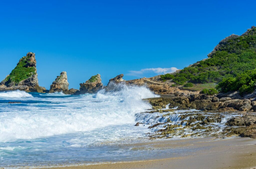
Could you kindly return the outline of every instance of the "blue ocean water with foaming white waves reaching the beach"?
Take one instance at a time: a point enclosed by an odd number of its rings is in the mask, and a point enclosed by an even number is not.
[[[0,92],[0,167],[144,159],[148,150],[124,145],[147,139],[151,130],[134,125],[136,114],[151,108],[142,99],[152,97],[146,87],[124,84],[78,96]]]

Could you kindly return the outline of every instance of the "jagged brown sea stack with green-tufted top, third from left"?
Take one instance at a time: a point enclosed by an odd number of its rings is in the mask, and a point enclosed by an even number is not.
[[[97,93],[99,90],[103,88],[103,84],[101,82],[100,74],[92,76],[85,83],[80,83],[80,89],[75,95],[85,94],[85,93]]]

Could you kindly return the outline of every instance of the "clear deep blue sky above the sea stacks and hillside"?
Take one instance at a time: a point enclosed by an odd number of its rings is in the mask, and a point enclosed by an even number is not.
[[[152,77],[204,59],[230,34],[256,25],[255,1],[6,1],[0,2],[0,79],[27,52],[39,85],[61,71],[70,88],[92,75],[107,84]],[[166,69],[152,69],[166,68]]]

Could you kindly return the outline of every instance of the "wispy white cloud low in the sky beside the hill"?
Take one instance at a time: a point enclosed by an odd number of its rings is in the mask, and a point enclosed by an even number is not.
[[[162,74],[167,74],[167,73],[173,73],[175,72],[177,69],[176,67],[170,67],[170,68],[146,68],[146,69],[141,69],[141,70],[130,70],[128,74],[126,74],[127,76],[143,76],[147,73],[155,73],[157,75],[162,75]]]

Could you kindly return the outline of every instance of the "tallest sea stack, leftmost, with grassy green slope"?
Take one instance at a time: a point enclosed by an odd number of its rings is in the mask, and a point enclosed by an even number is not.
[[[0,83],[0,91],[24,90],[27,92],[45,92],[38,84],[35,53],[28,52],[22,57],[17,66]]]

